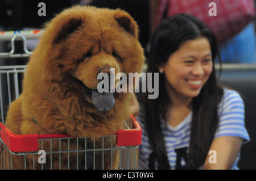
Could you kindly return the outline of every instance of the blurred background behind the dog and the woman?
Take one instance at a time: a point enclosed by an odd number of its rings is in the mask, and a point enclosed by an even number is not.
[[[40,2],[46,5],[46,16],[38,15]],[[212,8],[208,6],[209,2],[216,3],[217,16],[209,15]],[[40,30],[55,14],[72,5],[120,8],[129,12],[138,23],[139,41],[146,56],[152,33],[162,19],[179,12],[187,12],[203,20],[216,34],[220,46],[223,63],[220,83],[240,92],[245,102],[245,124],[251,141],[243,146],[238,166],[240,169],[256,169],[254,0],[0,0],[0,54],[11,50],[11,39],[2,36],[6,32],[14,35],[13,31]],[[32,51],[38,40],[27,40],[26,43],[27,49]],[[24,53],[23,48],[22,41],[15,41],[15,53]],[[0,57],[0,68],[6,65],[26,65],[27,61],[28,57]],[[216,69],[218,73],[219,66]],[[3,93],[2,99],[4,97]],[[5,110],[7,106],[3,106]],[[4,113],[5,111],[1,112]]]

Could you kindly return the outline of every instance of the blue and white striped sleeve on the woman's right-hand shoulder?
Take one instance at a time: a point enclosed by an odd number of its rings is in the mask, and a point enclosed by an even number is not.
[[[243,138],[243,144],[250,141],[245,128],[245,107],[238,92],[224,89],[220,108],[220,123],[215,137],[235,136]]]

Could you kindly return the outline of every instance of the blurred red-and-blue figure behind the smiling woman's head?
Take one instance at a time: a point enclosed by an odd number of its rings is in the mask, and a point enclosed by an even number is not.
[[[216,16],[208,14],[211,2]],[[222,62],[256,63],[253,0],[151,0],[151,35],[164,17],[180,12],[195,15],[216,34]]]

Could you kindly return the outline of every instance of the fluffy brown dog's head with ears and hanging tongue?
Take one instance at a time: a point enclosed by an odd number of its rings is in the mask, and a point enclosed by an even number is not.
[[[137,23],[122,10],[72,7],[47,24],[41,41],[47,76],[69,81],[74,94],[101,111],[111,109],[119,93],[100,94],[98,74],[110,75],[113,68],[128,77],[144,64]]]

